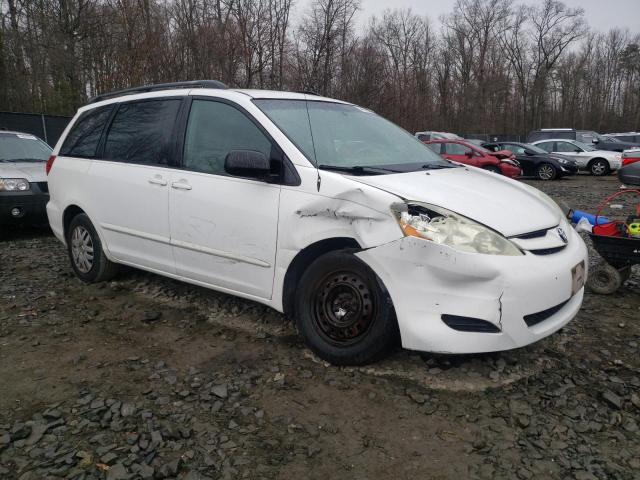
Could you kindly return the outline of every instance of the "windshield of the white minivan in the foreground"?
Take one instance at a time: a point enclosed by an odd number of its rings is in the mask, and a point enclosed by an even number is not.
[[[254,103],[318,166],[452,166],[409,132],[364,108],[306,100]]]

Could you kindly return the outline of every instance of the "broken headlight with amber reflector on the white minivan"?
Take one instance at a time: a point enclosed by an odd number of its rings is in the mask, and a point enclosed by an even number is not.
[[[391,210],[408,237],[429,240],[467,253],[522,255],[499,233],[444,208],[424,203],[396,203]]]

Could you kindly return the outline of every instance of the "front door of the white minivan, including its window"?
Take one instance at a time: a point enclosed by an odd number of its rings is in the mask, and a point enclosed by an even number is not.
[[[271,156],[271,141],[240,109],[194,99],[182,169],[170,184],[169,218],[177,273],[233,292],[271,298],[280,186],[229,176],[231,150]]]

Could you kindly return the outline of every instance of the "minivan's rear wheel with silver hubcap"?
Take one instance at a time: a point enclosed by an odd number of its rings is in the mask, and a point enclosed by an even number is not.
[[[112,279],[118,265],[104,254],[102,243],[89,217],[80,213],[73,217],[67,229],[67,252],[71,268],[85,283]]]

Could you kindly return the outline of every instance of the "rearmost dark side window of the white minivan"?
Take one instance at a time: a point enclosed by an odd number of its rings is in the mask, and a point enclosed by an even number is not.
[[[100,137],[104,130],[113,105],[94,108],[84,112],[69,130],[60,155],[68,157],[93,158],[98,150]]]

